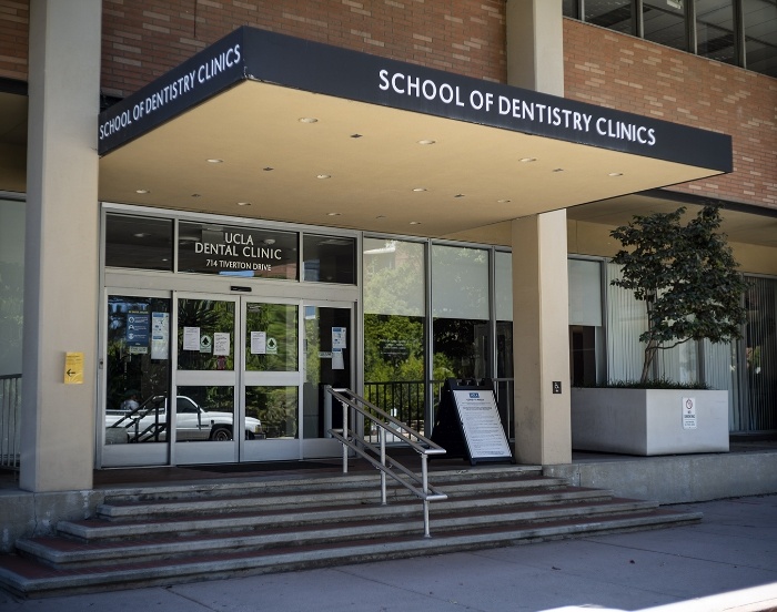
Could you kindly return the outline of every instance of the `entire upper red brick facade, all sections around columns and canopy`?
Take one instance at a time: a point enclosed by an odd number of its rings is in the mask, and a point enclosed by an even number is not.
[[[27,80],[27,0],[0,0],[0,76]],[[125,96],[240,26],[504,82],[503,0],[104,0],[102,93]],[[566,96],[731,134],[729,175],[673,190],[777,208],[777,80],[564,20]]]

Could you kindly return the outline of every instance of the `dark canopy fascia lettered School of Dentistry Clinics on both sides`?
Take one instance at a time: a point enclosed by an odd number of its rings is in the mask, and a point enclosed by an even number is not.
[[[730,172],[728,135],[241,28],[101,114],[100,153],[243,79]],[[246,109],[246,120],[250,120]]]

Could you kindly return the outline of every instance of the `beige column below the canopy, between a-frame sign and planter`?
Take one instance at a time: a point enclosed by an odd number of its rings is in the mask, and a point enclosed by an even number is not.
[[[572,462],[566,211],[513,221],[515,453]],[[555,384],[561,384],[561,392]]]

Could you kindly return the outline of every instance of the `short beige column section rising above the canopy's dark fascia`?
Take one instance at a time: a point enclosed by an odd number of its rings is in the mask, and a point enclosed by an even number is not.
[[[562,0],[507,0],[507,83],[564,95]]]

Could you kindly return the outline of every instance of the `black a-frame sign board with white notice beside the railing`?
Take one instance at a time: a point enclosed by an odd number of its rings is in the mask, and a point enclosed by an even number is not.
[[[437,409],[432,441],[448,457],[463,457],[473,466],[484,461],[513,461],[491,380],[448,378]]]

